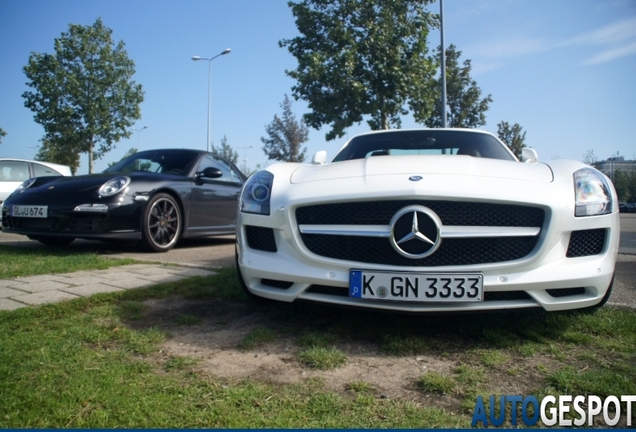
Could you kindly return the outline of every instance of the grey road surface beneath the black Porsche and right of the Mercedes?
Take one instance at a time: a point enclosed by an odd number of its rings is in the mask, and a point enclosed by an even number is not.
[[[32,248],[47,247],[24,236],[2,231],[0,231],[0,244]],[[76,251],[91,251],[113,257],[130,257],[205,269],[234,265],[233,236],[185,240],[166,253],[141,252],[132,244],[87,240],[76,240],[67,247]],[[620,248],[610,303],[636,308],[636,214],[621,214]]]

